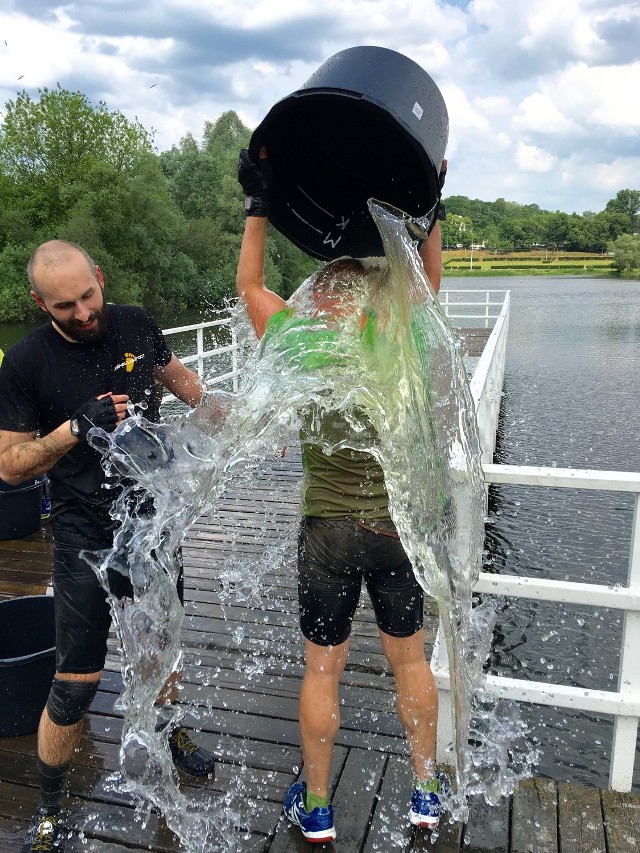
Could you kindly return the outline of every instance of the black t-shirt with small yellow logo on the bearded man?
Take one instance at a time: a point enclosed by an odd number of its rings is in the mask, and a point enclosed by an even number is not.
[[[128,394],[159,419],[154,371],[171,359],[162,332],[143,308],[108,305],[105,333],[89,344],[71,343],[51,323],[5,353],[0,365],[0,429],[47,435],[87,400]],[[100,453],[79,442],[50,469],[51,522],[57,541],[109,547],[115,497],[104,488]]]

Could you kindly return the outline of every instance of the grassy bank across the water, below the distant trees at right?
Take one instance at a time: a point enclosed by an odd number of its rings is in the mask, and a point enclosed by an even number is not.
[[[588,252],[491,252],[486,249],[445,249],[442,252],[445,275],[616,275],[608,255]]]

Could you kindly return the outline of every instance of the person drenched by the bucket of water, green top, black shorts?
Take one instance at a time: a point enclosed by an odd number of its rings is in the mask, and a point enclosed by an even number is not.
[[[301,297],[312,304],[302,312],[296,310],[295,296],[286,302],[267,289],[265,165],[264,150],[260,162],[246,150],[240,154],[238,178],[247,215],[237,288],[261,346],[265,352],[282,348],[283,370],[316,370],[358,358],[357,352],[344,349],[342,331],[350,327],[352,339],[365,353],[371,337],[383,334],[384,318],[372,308],[381,282],[379,265],[353,258],[329,263],[312,277],[311,290]],[[443,163],[443,173],[445,169]],[[419,253],[437,293],[441,276],[437,223]],[[437,691],[424,652],[424,594],[391,520],[382,468],[371,453],[354,449],[375,444],[375,430],[357,409],[336,412],[312,406],[302,418],[298,598],[306,667],[299,723],[306,782],[295,783],[286,793],[285,815],[309,841],[336,837],[329,783],[340,726],[338,688],[364,580],[394,674],[397,709],[415,770],[409,819],[413,825],[435,828],[444,781],[435,766]]]

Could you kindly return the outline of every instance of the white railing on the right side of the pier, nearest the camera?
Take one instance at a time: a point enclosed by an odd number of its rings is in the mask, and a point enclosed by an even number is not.
[[[609,787],[630,791],[640,718],[640,474],[620,471],[535,468],[491,463],[498,426],[505,347],[509,323],[509,294],[471,378],[482,445],[485,483],[546,486],[630,492],[635,495],[633,529],[626,586],[545,580],[481,572],[474,591],[535,600],[611,607],[624,611],[617,691],[585,690],[571,685],[487,676],[487,686],[500,697],[554,707],[612,715],[613,744]],[[438,687],[438,760],[447,760],[452,742],[451,696],[446,644],[438,629],[431,666]]]

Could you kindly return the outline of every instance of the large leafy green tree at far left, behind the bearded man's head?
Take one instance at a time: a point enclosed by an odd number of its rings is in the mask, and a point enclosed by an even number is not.
[[[114,301],[175,310],[197,303],[205,279],[151,135],[103,103],[93,107],[60,87],[37,102],[26,93],[9,102],[0,127],[0,200],[5,319],[30,316],[24,267],[52,237],[87,249]]]

